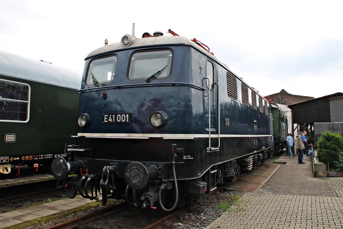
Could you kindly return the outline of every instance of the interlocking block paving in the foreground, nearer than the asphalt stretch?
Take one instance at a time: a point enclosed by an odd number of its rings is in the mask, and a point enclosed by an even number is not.
[[[343,228],[343,198],[246,193],[207,228]]]

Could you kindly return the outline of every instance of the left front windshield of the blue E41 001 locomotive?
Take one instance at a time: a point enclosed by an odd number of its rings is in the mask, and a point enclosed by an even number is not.
[[[104,83],[111,82],[114,78],[116,66],[117,56],[92,60],[89,65],[86,84],[102,86]]]

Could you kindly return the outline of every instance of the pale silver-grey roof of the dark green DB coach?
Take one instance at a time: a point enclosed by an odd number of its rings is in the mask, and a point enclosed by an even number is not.
[[[0,75],[80,89],[82,73],[0,50]]]

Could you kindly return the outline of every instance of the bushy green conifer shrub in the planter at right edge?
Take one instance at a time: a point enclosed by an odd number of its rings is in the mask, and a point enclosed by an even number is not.
[[[331,133],[331,131],[322,132],[317,144],[319,161],[329,163],[329,166],[334,167],[342,156],[343,138],[341,134]]]

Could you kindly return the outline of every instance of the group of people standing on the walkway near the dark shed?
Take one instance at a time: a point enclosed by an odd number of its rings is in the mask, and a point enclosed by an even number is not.
[[[287,146],[286,155],[287,157],[293,157],[292,146],[294,144],[294,149],[296,149],[296,153],[298,154],[299,164],[305,164],[305,162],[303,162],[303,161],[307,161],[307,159],[305,158],[305,155],[308,154],[309,156],[311,156],[313,153],[313,143],[310,142],[310,144],[308,144],[311,138],[307,137],[306,135],[307,135],[306,131],[304,132],[300,131],[299,135],[296,137],[295,140],[293,139],[292,134],[287,134],[287,137],[286,137],[286,146]]]

